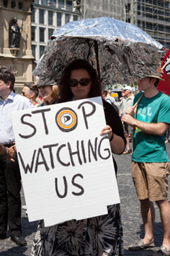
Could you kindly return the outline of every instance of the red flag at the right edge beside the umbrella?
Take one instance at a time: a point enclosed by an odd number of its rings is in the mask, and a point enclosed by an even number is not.
[[[162,68],[165,65],[165,63],[169,61],[169,59],[170,59],[170,48],[167,51],[165,58],[163,59],[163,63],[161,64]],[[158,90],[162,91],[163,94],[167,94],[168,96],[170,96],[170,61],[169,63],[167,63],[167,66],[165,66],[165,68],[163,69],[163,74],[161,77],[165,79],[165,81],[159,81]]]

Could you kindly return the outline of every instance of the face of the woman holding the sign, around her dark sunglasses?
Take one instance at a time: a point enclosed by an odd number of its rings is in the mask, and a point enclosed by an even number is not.
[[[71,71],[71,76],[69,80],[80,81],[81,79],[90,79],[90,75],[87,70],[73,70]],[[91,81],[88,85],[82,86],[78,83],[75,87],[70,87],[71,92],[73,94],[74,100],[82,100],[86,99],[89,96],[89,92],[91,89]]]

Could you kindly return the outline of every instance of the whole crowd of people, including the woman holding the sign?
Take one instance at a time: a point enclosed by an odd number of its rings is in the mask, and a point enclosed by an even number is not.
[[[0,239],[6,238],[9,228],[12,241],[18,246],[27,245],[22,237],[21,177],[10,112],[102,96],[106,126],[101,127],[100,135],[107,134],[113,154],[131,153],[132,177],[141,203],[145,236],[129,245],[129,250],[155,246],[155,201],[160,209],[164,239],[154,256],[170,255],[170,204],[167,199],[170,167],[165,147],[170,98],[157,89],[161,78],[153,75],[139,79],[138,89],[142,92],[135,98],[132,87],[124,87],[120,113],[110,91],[103,90],[101,94],[97,72],[88,61],[77,59],[69,63],[58,85],[54,80],[44,85],[41,79],[38,83],[25,83],[20,96],[14,93],[12,71],[0,68]],[[43,101],[38,98],[39,93]],[[114,158],[113,162],[117,173]],[[44,221],[39,221],[31,256],[124,255],[120,204],[108,205],[107,212],[50,227],[44,227]]]

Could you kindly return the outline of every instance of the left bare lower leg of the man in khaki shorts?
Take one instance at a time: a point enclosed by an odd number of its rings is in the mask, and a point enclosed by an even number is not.
[[[148,244],[154,240],[154,205],[149,199],[140,200],[141,203],[141,217],[145,228],[144,244]]]

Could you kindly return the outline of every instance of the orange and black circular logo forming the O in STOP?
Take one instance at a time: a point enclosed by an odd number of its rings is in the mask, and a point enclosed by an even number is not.
[[[71,132],[78,125],[78,116],[73,109],[60,109],[56,113],[56,124],[62,132]]]

